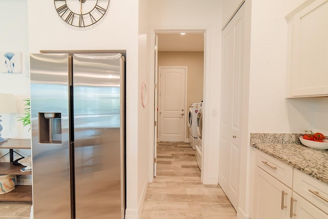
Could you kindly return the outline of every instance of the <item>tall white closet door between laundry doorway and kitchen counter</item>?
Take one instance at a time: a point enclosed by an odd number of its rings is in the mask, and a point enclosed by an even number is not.
[[[241,147],[244,6],[222,31],[219,184],[238,207]]]

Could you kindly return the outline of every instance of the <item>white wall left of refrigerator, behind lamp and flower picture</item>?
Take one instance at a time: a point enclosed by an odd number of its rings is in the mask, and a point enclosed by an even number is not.
[[[23,128],[22,122],[17,122],[17,116],[23,116],[24,113],[23,99],[30,96],[27,0],[1,1],[0,20],[1,61],[4,58],[3,52],[22,52],[23,70],[23,73],[0,72],[0,93],[14,94],[17,105],[16,114],[4,114],[1,117],[1,124],[4,127],[1,134],[4,138],[31,138],[29,128]]]

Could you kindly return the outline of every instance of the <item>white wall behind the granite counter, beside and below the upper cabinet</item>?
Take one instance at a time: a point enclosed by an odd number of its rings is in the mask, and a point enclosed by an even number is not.
[[[250,132],[303,133],[306,128],[328,134],[328,98],[285,98],[285,15],[303,2],[252,1]]]

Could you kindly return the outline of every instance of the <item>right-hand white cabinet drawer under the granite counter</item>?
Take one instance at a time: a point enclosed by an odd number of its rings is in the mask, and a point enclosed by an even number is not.
[[[322,211],[328,212],[328,185],[295,169],[293,190]]]

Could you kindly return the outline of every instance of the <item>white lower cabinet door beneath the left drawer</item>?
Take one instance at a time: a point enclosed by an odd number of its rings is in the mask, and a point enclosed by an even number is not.
[[[255,168],[255,203],[252,218],[290,218],[292,189],[261,168]]]

